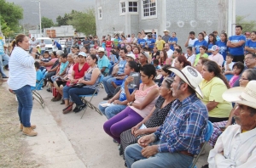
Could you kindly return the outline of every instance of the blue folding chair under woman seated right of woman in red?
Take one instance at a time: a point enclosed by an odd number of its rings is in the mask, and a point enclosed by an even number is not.
[[[100,75],[100,76],[101,76],[101,77],[100,77],[100,81],[99,81],[99,83],[96,85],[96,90],[99,90],[99,88],[100,88],[100,86],[101,86],[101,83],[102,83],[102,81],[103,81],[103,78],[104,78],[103,75]],[[102,115],[101,111],[100,111],[95,105],[93,105],[93,104],[90,103],[90,101],[92,100],[92,98],[98,95],[98,92],[96,92],[96,90],[95,90],[95,92],[94,92],[93,94],[79,95],[79,98],[81,98],[82,101],[84,102],[84,104],[86,104],[86,107],[84,108],[84,113],[85,113],[87,107],[90,107],[90,109],[95,109],[97,113],[99,113],[100,115]],[[90,100],[87,101],[87,100],[85,99],[86,97],[90,97]],[[84,113],[83,113],[83,115],[81,116],[81,119],[83,118]]]

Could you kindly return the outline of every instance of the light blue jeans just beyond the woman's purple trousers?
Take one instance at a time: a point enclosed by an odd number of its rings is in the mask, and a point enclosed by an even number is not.
[[[119,114],[122,110],[124,110],[127,105],[120,105],[120,104],[111,104],[108,107],[102,107],[101,104],[107,104],[108,102],[101,102],[99,104],[99,109],[103,115],[107,117],[107,119],[111,119],[114,115]]]

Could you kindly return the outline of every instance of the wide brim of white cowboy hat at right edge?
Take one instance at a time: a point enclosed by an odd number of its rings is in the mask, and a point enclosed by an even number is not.
[[[243,104],[256,109],[255,102],[248,102],[247,100],[241,98],[241,93],[244,91],[244,89],[245,87],[232,87],[222,94],[222,98],[227,102]]]

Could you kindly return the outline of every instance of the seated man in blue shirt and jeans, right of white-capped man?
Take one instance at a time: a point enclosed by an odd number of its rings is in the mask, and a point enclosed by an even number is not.
[[[113,98],[113,93],[115,88],[112,85],[112,81],[116,80],[117,78],[121,80],[125,78],[125,64],[126,64],[126,59],[125,55],[127,54],[127,49],[126,48],[121,48],[119,52],[119,57],[121,58],[119,61],[119,71],[116,74],[112,74],[110,76],[106,76],[103,79],[103,85],[104,89],[107,92],[108,96],[106,98],[103,98],[103,100],[108,100],[110,98]]]

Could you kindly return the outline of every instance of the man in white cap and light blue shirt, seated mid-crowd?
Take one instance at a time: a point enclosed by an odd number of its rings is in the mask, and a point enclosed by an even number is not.
[[[101,70],[102,74],[106,75],[108,74],[108,66],[110,63],[109,63],[108,57],[105,55],[105,49],[99,48],[98,55],[99,55],[98,67]]]

